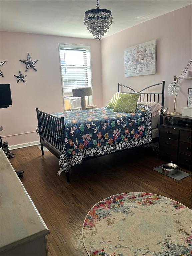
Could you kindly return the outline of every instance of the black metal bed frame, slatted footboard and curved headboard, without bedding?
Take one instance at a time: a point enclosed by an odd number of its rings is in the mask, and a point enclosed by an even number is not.
[[[143,92],[144,90],[157,85],[162,85],[162,92],[160,93]],[[139,92],[136,92],[132,88],[126,85],[122,85],[120,83],[117,84],[118,92],[120,91],[120,86],[130,89],[131,91],[133,91],[133,93],[140,93],[140,101],[143,98],[142,101],[145,101],[145,99],[148,101],[148,99],[150,99],[150,102],[156,102],[156,98],[157,98],[157,102],[159,103],[159,96],[162,95],[161,105],[164,106],[165,81],[162,81],[162,83],[148,86]],[[36,108],[36,111],[37,111],[37,121],[38,121],[38,127],[39,127],[39,137],[40,137],[42,156],[44,155],[43,146],[45,146],[52,154],[54,154],[57,158],[60,158],[62,149],[64,146],[64,142],[65,142],[64,117],[56,117],[56,116],[47,114],[45,112],[40,111],[38,108]],[[159,120],[160,120],[159,123],[162,124],[163,117],[160,116]],[[157,140],[153,140],[152,142],[158,141],[158,138],[156,139]],[[113,152],[113,153],[116,153],[116,152]],[[96,157],[100,157],[100,156],[86,157],[82,160],[88,160]],[[66,172],[66,176],[67,176],[67,182],[69,182],[69,171]]]

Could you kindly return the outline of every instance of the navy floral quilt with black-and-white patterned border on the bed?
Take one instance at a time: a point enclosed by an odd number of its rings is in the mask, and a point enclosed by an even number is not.
[[[138,104],[135,113],[117,113],[104,107],[52,115],[64,116],[66,138],[59,164],[66,172],[85,157],[152,141],[151,111],[146,105]]]

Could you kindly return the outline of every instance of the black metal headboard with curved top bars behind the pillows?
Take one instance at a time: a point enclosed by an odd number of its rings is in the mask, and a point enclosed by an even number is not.
[[[146,93],[145,93],[145,92],[143,92],[144,90],[146,90],[146,89],[148,89],[148,88],[151,88],[151,87],[153,87],[153,86],[157,86],[157,85],[162,85],[162,92],[153,92],[153,93],[149,93],[149,92],[146,92]],[[146,101],[149,100],[150,102],[158,102],[158,103],[159,103],[159,95],[162,95],[162,97],[161,97],[161,105],[162,105],[163,108],[164,108],[165,81],[162,81],[162,83],[150,85],[150,86],[148,86],[148,87],[142,89],[142,90],[139,91],[139,92],[136,92],[134,89],[132,89],[132,88],[126,86],[126,85],[117,83],[117,91],[118,91],[118,92],[119,92],[120,86],[130,89],[131,91],[133,91],[133,92],[131,92],[131,93],[140,93],[140,97],[139,97],[139,98],[140,98],[140,101],[141,101],[141,99],[143,99],[142,101],[145,101],[145,99],[146,99]],[[162,111],[163,111],[163,109],[162,109]]]

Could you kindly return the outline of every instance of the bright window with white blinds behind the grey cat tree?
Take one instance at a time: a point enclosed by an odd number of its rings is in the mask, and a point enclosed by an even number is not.
[[[91,87],[90,46],[59,44],[65,110],[81,107],[81,98],[72,97],[72,89]],[[86,97],[86,105],[92,97]]]

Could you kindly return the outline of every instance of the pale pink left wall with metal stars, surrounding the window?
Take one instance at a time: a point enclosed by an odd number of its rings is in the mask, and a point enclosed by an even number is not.
[[[0,125],[4,127],[1,136],[8,135],[3,140],[7,140],[9,145],[39,140],[35,132],[36,107],[47,113],[64,109],[58,43],[91,45],[93,104],[102,106],[100,42],[94,39],[1,32],[0,59],[7,62],[0,68],[4,75],[4,78],[0,77],[0,83],[11,84],[13,105],[0,110]],[[37,72],[32,69],[25,72],[26,65],[19,61],[26,60],[28,52],[32,59],[39,59],[35,64]],[[27,75],[25,83],[17,83],[17,78],[13,76],[19,70]]]

